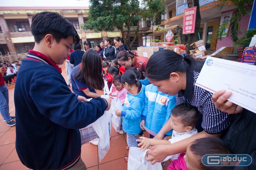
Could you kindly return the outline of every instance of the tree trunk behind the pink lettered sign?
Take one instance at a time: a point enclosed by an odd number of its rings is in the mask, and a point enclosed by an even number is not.
[[[187,41],[186,53],[189,53],[189,50],[193,49],[193,47],[190,45],[196,41],[197,35],[199,33],[201,15],[200,15],[199,0],[188,0],[187,3],[188,3],[188,8],[196,7],[195,33],[189,34],[188,41]]]

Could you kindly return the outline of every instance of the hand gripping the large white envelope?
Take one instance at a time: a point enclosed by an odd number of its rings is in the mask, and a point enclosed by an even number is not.
[[[226,90],[219,90],[212,94],[212,101],[215,108],[226,112],[228,114],[237,114],[242,112],[242,107],[234,104],[227,99],[232,95],[232,92],[226,92]],[[221,96],[222,95],[222,96]]]

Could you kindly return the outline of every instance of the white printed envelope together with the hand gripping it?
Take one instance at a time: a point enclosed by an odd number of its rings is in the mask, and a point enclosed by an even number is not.
[[[212,96],[215,107],[230,114],[241,112],[241,107],[256,113],[255,84],[255,66],[213,57],[207,57],[195,83],[212,93],[218,91]]]

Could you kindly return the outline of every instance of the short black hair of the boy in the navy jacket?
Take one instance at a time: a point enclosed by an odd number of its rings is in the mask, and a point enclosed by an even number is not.
[[[31,33],[36,43],[39,43],[47,34],[51,34],[57,43],[61,39],[67,39],[68,36],[73,37],[73,43],[75,44],[80,41],[75,27],[57,12],[36,13],[32,18]]]

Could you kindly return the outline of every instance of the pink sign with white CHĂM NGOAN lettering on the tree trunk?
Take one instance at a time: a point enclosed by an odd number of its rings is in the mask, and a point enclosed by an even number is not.
[[[183,34],[195,33],[196,7],[184,9]]]

